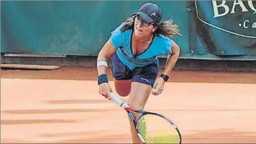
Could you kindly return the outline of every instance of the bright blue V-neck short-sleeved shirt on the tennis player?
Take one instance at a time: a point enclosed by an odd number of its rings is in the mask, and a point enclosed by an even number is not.
[[[127,29],[121,32],[120,29],[123,26],[118,26],[117,29],[111,32],[110,40],[112,41],[115,49],[117,50],[117,56],[124,65],[133,70],[135,67],[144,67],[145,65],[152,64],[157,60],[157,56],[164,53],[171,53],[172,41],[170,38],[164,35],[155,36],[149,48],[138,56],[132,55],[132,29]]]

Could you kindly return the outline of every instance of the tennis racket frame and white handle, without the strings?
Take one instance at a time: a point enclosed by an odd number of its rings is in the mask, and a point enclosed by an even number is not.
[[[139,133],[138,131],[138,124],[137,124],[137,121],[142,118],[142,116],[144,115],[147,115],[147,114],[150,114],[150,115],[156,115],[156,116],[160,116],[161,118],[164,118],[166,121],[168,121],[175,129],[176,131],[178,131],[178,134],[179,134],[179,143],[182,142],[182,138],[181,138],[181,132],[179,131],[179,128],[170,120],[168,119],[167,117],[159,114],[159,113],[154,113],[154,112],[147,112],[147,111],[144,111],[144,110],[136,110],[136,109],[133,109],[132,107],[128,106],[128,104],[124,103],[124,101],[122,101],[120,98],[118,98],[116,95],[114,95],[112,92],[110,92],[110,97],[112,100],[115,101],[115,103],[117,103],[120,107],[123,107],[124,110],[126,110],[126,112],[128,113],[128,115],[130,116],[130,118],[132,119],[133,121],[133,124],[135,126],[135,129],[136,129],[136,133],[139,137],[139,139],[143,142],[143,143],[146,143],[146,141],[142,138],[141,134]],[[132,113],[130,112],[136,112],[136,113],[141,113],[142,115],[139,116],[137,118],[137,120],[135,119],[135,117],[132,115]]]

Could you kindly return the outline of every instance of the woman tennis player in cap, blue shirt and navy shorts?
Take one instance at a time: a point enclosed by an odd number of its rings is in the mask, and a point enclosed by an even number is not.
[[[159,95],[170,72],[178,61],[180,48],[171,40],[179,34],[173,20],[161,22],[162,10],[146,3],[116,28],[98,53],[97,70],[99,93],[110,98],[107,80],[107,61],[112,62],[115,89],[120,96],[130,94],[128,105],[143,110],[150,92]],[[168,54],[164,72],[159,77],[158,56]],[[141,143],[130,120],[133,143]]]

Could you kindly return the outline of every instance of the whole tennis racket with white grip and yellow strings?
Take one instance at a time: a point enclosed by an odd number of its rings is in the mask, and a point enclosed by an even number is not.
[[[181,143],[181,133],[170,119],[159,113],[136,110],[110,92],[110,97],[129,114],[143,143]],[[139,113],[136,119],[131,112]]]

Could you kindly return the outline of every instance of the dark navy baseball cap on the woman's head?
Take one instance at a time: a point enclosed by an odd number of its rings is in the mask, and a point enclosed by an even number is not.
[[[136,13],[132,14],[132,16],[136,14],[141,16],[141,18],[148,23],[159,23],[162,19],[161,8],[153,3],[143,4]]]

